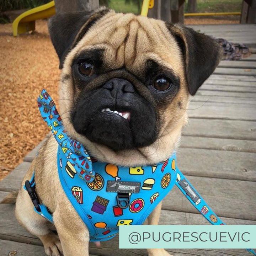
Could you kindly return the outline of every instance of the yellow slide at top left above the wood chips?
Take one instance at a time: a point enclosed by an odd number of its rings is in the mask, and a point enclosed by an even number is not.
[[[18,34],[35,30],[35,20],[48,18],[53,16],[54,14],[54,1],[48,2],[47,4],[23,12],[12,23],[12,34],[14,36],[17,36]]]

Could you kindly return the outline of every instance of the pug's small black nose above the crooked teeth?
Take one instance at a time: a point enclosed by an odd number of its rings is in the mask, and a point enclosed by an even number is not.
[[[129,81],[120,78],[113,78],[108,80],[106,84],[103,85],[103,88],[109,90],[113,97],[121,96],[127,92],[132,93],[135,91],[133,85]]]

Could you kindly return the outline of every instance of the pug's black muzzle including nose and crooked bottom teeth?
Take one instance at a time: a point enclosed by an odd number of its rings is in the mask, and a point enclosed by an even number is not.
[[[158,133],[154,106],[119,78],[81,92],[71,119],[76,132],[114,151],[150,145]]]

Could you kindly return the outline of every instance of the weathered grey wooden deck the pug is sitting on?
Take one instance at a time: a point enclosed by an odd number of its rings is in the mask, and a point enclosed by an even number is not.
[[[224,38],[230,32],[234,42],[256,43],[256,25],[225,26],[226,32],[217,25],[194,27]],[[190,124],[183,131],[177,154],[180,170],[226,224],[256,225],[256,54],[241,61],[221,62],[191,98],[188,114]],[[0,182],[0,201],[20,187],[38,148]],[[175,187],[163,201],[160,224],[208,222]],[[102,242],[100,249],[91,244],[90,255],[146,255],[145,250],[117,248],[118,238]],[[13,250],[17,256],[45,255],[41,241],[17,223],[14,206],[0,205],[0,255],[7,256]],[[242,249],[168,251],[174,256],[250,255]]]

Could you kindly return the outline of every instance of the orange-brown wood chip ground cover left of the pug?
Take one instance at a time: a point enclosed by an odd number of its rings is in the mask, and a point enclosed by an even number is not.
[[[59,61],[47,22],[37,21],[33,34],[11,31],[11,24],[0,25],[0,180],[49,132],[37,107],[40,91],[58,103]]]

